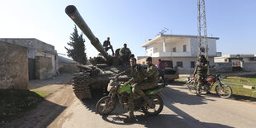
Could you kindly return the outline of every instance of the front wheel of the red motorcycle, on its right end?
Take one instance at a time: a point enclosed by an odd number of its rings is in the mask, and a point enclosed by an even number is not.
[[[216,94],[223,98],[228,98],[232,95],[232,89],[228,84],[220,83],[220,85],[217,85],[216,88]]]

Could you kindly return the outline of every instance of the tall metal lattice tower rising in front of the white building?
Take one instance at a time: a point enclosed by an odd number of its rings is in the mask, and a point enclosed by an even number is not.
[[[207,61],[209,62],[205,0],[197,0],[197,45],[198,57],[199,55],[205,55]],[[207,73],[209,73],[209,64],[207,69]]]

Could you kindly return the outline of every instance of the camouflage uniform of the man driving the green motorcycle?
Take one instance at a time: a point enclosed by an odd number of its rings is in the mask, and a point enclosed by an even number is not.
[[[145,79],[144,75],[145,69],[143,69],[140,64],[136,64],[135,67],[131,67],[130,69],[119,73],[118,75],[130,75],[132,78],[128,80],[128,83],[134,88],[138,83],[142,83]],[[130,99],[128,102],[129,106],[129,114],[130,116],[134,116],[134,96],[133,92],[130,94]]]

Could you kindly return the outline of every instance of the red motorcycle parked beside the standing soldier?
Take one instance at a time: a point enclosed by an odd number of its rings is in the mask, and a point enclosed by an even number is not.
[[[210,92],[211,88],[214,87],[214,84],[217,83],[215,91],[219,97],[228,98],[232,95],[232,89],[226,83],[221,82],[221,76],[219,73],[217,74],[210,74],[204,81],[203,85],[201,86],[201,91]],[[190,92],[196,93],[197,92],[197,78],[195,77],[188,77],[187,78],[187,88]]]

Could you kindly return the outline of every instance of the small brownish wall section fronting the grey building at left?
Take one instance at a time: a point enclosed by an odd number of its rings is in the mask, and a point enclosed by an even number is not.
[[[36,56],[36,78],[46,79],[52,78],[53,66],[52,59],[44,56]]]

